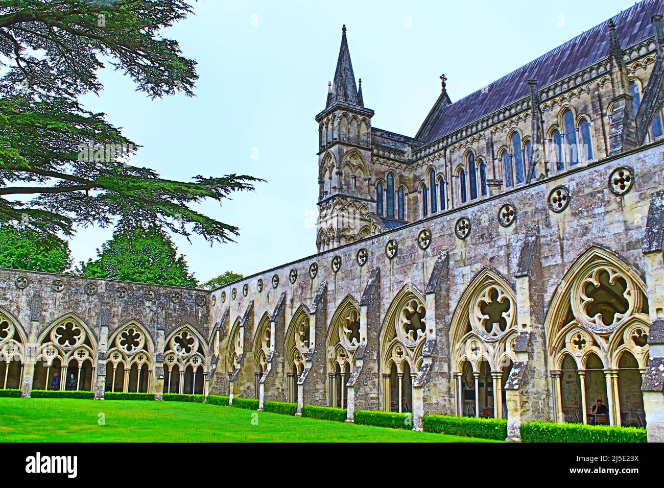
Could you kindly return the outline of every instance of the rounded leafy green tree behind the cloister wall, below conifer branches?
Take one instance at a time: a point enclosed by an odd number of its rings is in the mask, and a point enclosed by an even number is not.
[[[97,259],[81,263],[81,276],[127,282],[194,288],[184,256],[177,256],[171,238],[161,230],[137,227],[117,230],[97,250]]]

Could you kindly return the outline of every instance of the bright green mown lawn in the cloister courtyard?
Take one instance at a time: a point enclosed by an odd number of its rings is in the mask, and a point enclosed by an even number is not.
[[[105,425],[98,423],[100,414]],[[489,441],[208,404],[0,398],[0,442]]]

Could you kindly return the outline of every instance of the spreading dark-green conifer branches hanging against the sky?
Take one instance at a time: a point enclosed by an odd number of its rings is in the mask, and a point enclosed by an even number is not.
[[[187,0],[0,0],[0,222],[52,237],[116,221],[210,243],[238,235],[194,208],[261,180],[173,181],[133,167],[137,145],[78,102],[103,90],[98,72],[108,65],[150,98],[193,96],[196,62],[162,32],[191,12]]]

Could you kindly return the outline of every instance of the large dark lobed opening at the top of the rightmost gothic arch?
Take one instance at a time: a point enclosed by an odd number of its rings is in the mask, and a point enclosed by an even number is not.
[[[600,270],[593,279],[588,280],[583,293],[586,297],[584,310],[597,325],[610,327],[625,316],[629,302],[625,299],[627,282],[624,278],[607,270]]]

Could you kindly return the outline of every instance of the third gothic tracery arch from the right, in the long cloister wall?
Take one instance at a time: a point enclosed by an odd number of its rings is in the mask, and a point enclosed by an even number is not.
[[[411,411],[412,380],[422,366],[422,347],[432,327],[427,322],[424,295],[413,285],[404,285],[380,327],[383,410]]]

